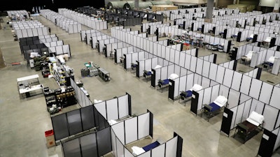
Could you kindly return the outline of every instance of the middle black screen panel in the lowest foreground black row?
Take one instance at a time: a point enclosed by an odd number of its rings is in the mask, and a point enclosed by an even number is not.
[[[98,157],[96,134],[80,137],[80,147],[83,157]]]

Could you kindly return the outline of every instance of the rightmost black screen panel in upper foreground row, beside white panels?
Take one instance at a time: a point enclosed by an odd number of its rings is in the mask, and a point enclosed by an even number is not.
[[[93,105],[80,108],[80,116],[82,118],[83,130],[95,127]]]

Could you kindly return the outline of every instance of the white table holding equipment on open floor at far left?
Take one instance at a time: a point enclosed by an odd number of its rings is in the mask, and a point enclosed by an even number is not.
[[[43,84],[39,83],[38,75],[30,75],[26,77],[18,78],[18,91],[21,98],[27,98],[30,96],[35,96],[38,94],[36,91],[40,91],[40,94],[43,92]]]

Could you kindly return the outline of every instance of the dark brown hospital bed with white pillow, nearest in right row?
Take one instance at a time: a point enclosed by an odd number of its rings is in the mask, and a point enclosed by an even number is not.
[[[242,121],[235,127],[235,135],[240,135],[245,143],[251,137],[262,130],[265,118],[258,112],[251,112],[246,121]],[[259,130],[258,130],[259,129]],[[233,137],[235,137],[235,135]]]

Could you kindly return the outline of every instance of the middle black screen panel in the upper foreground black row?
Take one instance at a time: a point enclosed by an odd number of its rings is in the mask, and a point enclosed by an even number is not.
[[[82,119],[80,119],[80,110],[73,110],[66,113],[69,133],[70,135],[74,135],[76,133],[80,133],[83,131],[82,127]]]

